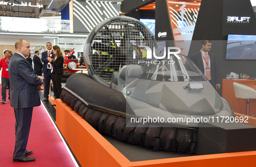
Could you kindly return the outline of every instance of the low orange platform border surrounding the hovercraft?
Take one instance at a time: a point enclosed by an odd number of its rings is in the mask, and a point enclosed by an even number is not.
[[[250,123],[256,119],[250,117]],[[149,161],[129,161],[74,110],[56,100],[56,124],[83,167],[219,167],[252,166],[256,151],[175,157]]]

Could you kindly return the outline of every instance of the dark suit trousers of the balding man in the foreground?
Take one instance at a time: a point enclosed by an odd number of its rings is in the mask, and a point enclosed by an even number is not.
[[[14,158],[22,157],[26,154],[26,147],[29,139],[29,131],[32,119],[33,107],[14,109],[15,115],[15,150]]]

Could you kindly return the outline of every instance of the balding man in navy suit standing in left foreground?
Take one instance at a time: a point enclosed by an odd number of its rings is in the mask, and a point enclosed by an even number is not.
[[[16,52],[10,59],[10,106],[15,114],[15,151],[13,162],[30,162],[36,158],[28,157],[33,151],[26,151],[32,119],[33,107],[40,106],[40,97],[37,88],[42,85],[41,76],[36,76],[26,57],[30,54],[30,45],[20,39],[15,43]]]

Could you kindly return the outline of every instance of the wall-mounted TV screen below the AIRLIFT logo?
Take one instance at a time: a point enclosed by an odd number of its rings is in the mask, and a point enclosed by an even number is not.
[[[256,35],[229,34],[226,59],[256,60]]]

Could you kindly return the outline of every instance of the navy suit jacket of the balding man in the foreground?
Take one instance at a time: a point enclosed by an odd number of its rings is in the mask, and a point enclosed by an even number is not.
[[[36,76],[25,58],[14,53],[9,63],[10,106],[15,109],[40,106],[37,86],[42,80]]]

